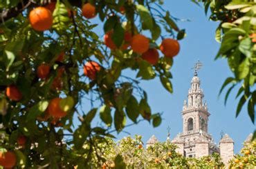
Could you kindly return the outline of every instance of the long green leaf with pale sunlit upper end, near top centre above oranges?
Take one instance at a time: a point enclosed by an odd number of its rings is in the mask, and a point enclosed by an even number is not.
[[[136,9],[138,14],[140,15],[140,21],[145,26],[145,29],[152,30],[153,29],[153,19],[149,13],[149,10],[145,8],[143,5],[137,5]],[[154,30],[152,30],[154,31]]]

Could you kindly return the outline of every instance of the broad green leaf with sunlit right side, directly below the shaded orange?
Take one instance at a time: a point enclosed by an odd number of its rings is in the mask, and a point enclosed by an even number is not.
[[[140,70],[136,77],[142,77],[142,79],[148,80],[153,79],[156,76],[152,65],[150,63],[147,63],[147,61],[140,61],[139,68]]]

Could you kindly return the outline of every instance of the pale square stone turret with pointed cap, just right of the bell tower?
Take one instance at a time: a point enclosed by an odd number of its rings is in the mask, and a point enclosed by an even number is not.
[[[219,148],[221,150],[221,159],[225,165],[234,156],[234,141],[226,134],[219,141]]]

